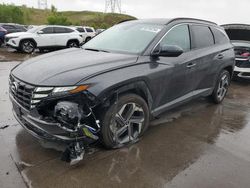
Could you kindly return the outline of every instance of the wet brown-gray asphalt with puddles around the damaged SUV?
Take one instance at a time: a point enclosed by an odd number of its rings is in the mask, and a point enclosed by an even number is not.
[[[250,187],[249,82],[232,82],[220,105],[192,101],[151,122],[138,143],[97,146],[69,166],[60,146],[37,141],[11,112],[8,74],[34,55],[0,49],[0,187]]]

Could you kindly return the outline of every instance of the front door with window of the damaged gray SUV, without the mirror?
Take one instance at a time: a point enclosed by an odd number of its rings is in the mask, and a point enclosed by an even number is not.
[[[165,106],[168,103],[171,106],[171,103],[174,104],[192,95],[196,64],[190,57],[189,33],[187,24],[177,25],[170,29],[159,43],[159,45],[176,45],[184,50],[184,53],[178,57],[159,57],[157,60],[157,63],[169,64],[171,67],[166,68],[166,74],[159,82],[162,87],[159,106]],[[164,81],[165,78],[168,80]]]

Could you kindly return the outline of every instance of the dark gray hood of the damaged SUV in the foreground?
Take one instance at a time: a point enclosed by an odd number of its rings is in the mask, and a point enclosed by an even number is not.
[[[67,49],[25,61],[15,67],[11,74],[32,85],[70,86],[93,76],[133,65],[137,58],[137,55]]]

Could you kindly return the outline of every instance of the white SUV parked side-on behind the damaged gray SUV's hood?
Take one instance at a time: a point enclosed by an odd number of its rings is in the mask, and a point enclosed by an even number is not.
[[[81,34],[73,28],[65,26],[38,26],[27,32],[11,33],[5,36],[8,46],[25,53],[32,53],[36,48],[79,47],[83,43]]]

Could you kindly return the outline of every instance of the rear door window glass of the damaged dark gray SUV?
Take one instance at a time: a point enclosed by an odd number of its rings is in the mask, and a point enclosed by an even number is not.
[[[204,48],[214,44],[214,36],[206,26],[192,25],[192,47]]]

